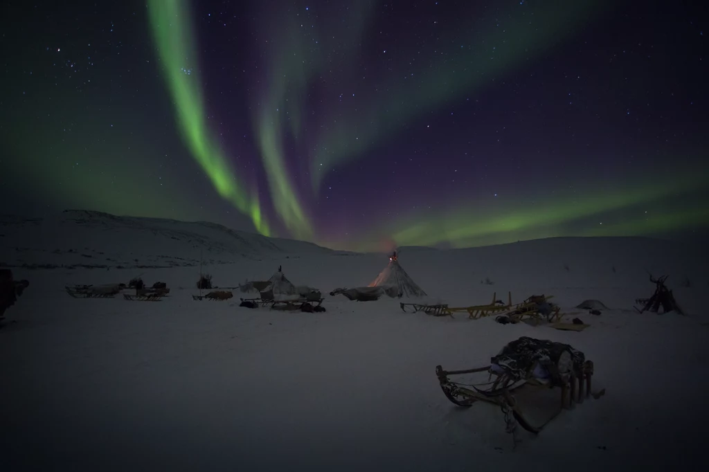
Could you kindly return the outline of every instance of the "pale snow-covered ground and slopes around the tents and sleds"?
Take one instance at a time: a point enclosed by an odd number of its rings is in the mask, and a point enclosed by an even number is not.
[[[189,243],[160,246],[162,233],[124,223],[121,237],[111,238],[106,234],[116,228],[99,220],[91,227],[61,221],[80,241],[77,249],[113,254],[115,261],[102,259],[97,265],[105,267],[95,269],[75,265],[71,257],[81,254],[53,252],[49,235],[26,239],[18,264],[13,245],[26,225],[2,230],[0,262],[20,265],[16,279],[30,281],[0,329],[2,471],[661,470],[678,459],[699,470],[707,463],[709,319],[702,298],[709,259],[697,249],[641,238],[561,238],[399,252],[413,280],[450,305],[486,303],[493,292],[506,299],[511,291],[513,302],[552,294],[591,325],[564,332],[403,313],[389,299],[328,297],[326,313],[239,308],[238,292],[236,301],[194,301],[199,267],[146,267],[160,264],[145,248],[199,264],[199,245],[186,255]],[[192,232],[200,225],[170,224]],[[206,235],[201,244],[216,247],[216,239]],[[389,262],[382,254],[282,240],[274,242],[279,250],[268,240],[261,249],[243,249],[228,236],[221,244],[228,249],[204,268],[220,286],[267,279],[282,265],[296,285],[326,293],[366,285]],[[138,261],[116,269],[129,259]],[[688,315],[632,310],[635,298],[654,290],[646,270],[670,274],[668,285]],[[167,282],[169,298],[81,300],[63,291],[139,274],[149,284]],[[481,283],[486,279],[492,284]],[[573,308],[588,298],[613,310],[595,316]],[[596,366],[595,389],[606,393],[562,412],[538,437],[520,432],[523,442],[513,451],[501,411],[454,407],[435,366],[484,365],[523,335],[583,351]]]

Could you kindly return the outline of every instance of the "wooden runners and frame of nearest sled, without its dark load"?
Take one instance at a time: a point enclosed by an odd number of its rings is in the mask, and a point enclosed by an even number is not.
[[[584,399],[592,395],[593,362],[584,361],[579,371],[572,370],[561,376],[561,385],[554,385],[548,379],[535,378],[531,373],[525,378],[515,379],[506,373],[498,373],[491,365],[462,371],[445,371],[441,366],[436,366],[436,376],[446,398],[454,405],[467,408],[477,401],[491,403],[503,411],[508,433],[514,433],[516,425],[520,425],[532,434],[538,434],[559,413],[569,410],[574,403],[584,403]],[[461,380],[452,380],[455,377]],[[515,395],[519,397],[523,394],[525,389],[559,390],[559,401],[555,407],[552,406],[552,413],[542,420],[532,420],[530,415],[525,414],[515,398]],[[605,390],[593,395],[593,398],[603,393]]]

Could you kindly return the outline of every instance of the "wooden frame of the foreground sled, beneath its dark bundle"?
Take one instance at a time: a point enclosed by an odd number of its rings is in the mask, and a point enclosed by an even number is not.
[[[477,388],[476,385],[456,383],[451,381],[449,378],[449,376],[476,372],[488,372],[490,374],[490,378],[494,376],[495,380],[478,384],[487,385],[489,388]],[[454,403],[454,405],[468,408],[476,401],[483,401],[497,405],[506,415],[508,432],[514,431],[514,425],[510,424],[511,420],[508,419],[508,413],[511,412],[518,425],[532,434],[539,434],[542,429],[549,424],[549,422],[554,420],[554,418],[559,415],[559,413],[564,410],[569,410],[571,405],[574,403],[584,403],[584,398],[591,395],[593,362],[584,361],[581,371],[571,371],[571,373],[564,378],[564,383],[562,383],[562,386],[559,388],[559,390],[561,390],[559,410],[554,412],[552,417],[549,417],[549,419],[541,425],[532,425],[532,422],[525,417],[522,409],[515,402],[515,398],[512,393],[515,390],[520,390],[521,388],[525,388],[527,386],[552,389],[557,388],[556,386],[538,381],[536,378],[532,378],[531,376],[521,381],[515,381],[504,374],[496,373],[491,369],[491,366],[467,369],[463,371],[444,371],[441,366],[436,366],[436,376],[446,398],[448,398],[451,403]]]

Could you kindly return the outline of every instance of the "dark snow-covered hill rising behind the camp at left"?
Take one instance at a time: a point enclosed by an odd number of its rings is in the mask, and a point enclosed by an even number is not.
[[[0,216],[0,262],[16,267],[171,267],[329,254],[309,242],[215,223],[66,210],[55,218]]]

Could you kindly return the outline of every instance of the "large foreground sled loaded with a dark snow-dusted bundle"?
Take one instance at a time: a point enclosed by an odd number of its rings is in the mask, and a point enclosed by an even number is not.
[[[443,393],[455,405],[469,407],[483,401],[501,408],[506,432],[513,434],[515,443],[517,425],[538,434],[573,403],[583,403],[588,395],[599,398],[605,393],[602,390],[591,394],[593,362],[586,360],[583,352],[569,344],[531,337],[510,342],[487,366],[462,371],[445,371],[436,366],[436,376]],[[530,387],[559,390],[559,401],[551,405],[551,413],[542,412],[541,419],[538,414],[533,418],[523,412],[515,399],[515,395],[521,396]]]

